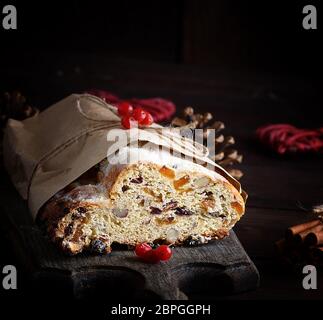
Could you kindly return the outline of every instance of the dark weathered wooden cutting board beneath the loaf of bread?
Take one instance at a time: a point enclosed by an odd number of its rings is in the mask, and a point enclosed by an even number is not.
[[[174,248],[173,257],[158,264],[141,262],[127,250],[105,256],[66,256],[33,223],[3,170],[1,176],[2,232],[40,292],[50,288],[77,299],[113,292],[114,298],[178,300],[208,293],[221,297],[259,284],[259,273],[233,231],[207,245]]]

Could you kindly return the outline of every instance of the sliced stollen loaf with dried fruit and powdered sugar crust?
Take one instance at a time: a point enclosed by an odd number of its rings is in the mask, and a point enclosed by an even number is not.
[[[124,157],[128,163],[120,164]],[[112,243],[223,238],[245,210],[223,176],[166,152],[127,147],[92,172],[57,193],[39,215],[51,239],[71,254],[109,252]]]

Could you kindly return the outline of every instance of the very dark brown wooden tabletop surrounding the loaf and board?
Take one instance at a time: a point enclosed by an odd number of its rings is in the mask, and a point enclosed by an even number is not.
[[[322,297],[323,270],[318,270],[318,289],[304,290],[301,271],[282,265],[274,242],[286,227],[310,219],[299,209],[298,201],[323,201],[323,157],[278,157],[254,138],[255,129],[266,123],[322,126],[320,82],[248,70],[123,61],[91,53],[26,53],[18,61],[1,59],[0,67],[1,91],[20,89],[41,109],[70,93],[102,88],[123,97],[165,97],[178,109],[191,105],[198,111],[213,112],[226,123],[244,155],[241,182],[249,200],[235,231],[261,275],[258,290],[230,299]],[[4,181],[0,183],[2,193],[8,190]],[[6,232],[2,231],[2,264],[15,263]]]

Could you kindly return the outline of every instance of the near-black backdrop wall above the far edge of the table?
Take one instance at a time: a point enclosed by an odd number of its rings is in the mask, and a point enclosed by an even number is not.
[[[50,51],[309,76],[322,64],[319,1],[10,3],[18,30],[0,32],[6,63]],[[318,10],[317,30],[302,27],[307,4]]]

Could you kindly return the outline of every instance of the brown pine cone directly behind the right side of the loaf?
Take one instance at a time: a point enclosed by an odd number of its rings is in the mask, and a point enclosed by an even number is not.
[[[195,139],[200,139],[197,141],[203,141],[205,146],[207,146],[207,138],[212,132],[212,130],[208,129],[213,129],[215,132],[214,143],[211,143],[210,147],[208,146],[210,158],[225,168],[233,177],[240,179],[243,176],[243,173],[240,170],[231,167],[232,165],[242,162],[242,155],[233,148],[235,143],[234,138],[232,136],[223,135],[222,131],[225,128],[223,122],[211,122],[211,120],[213,120],[213,115],[211,113],[194,113],[194,109],[192,107],[187,107],[183,110],[183,117],[174,118],[171,125],[173,127],[181,127],[183,129],[203,129],[201,133],[203,137],[196,136],[196,134],[198,134],[197,132],[194,133],[194,137]]]

